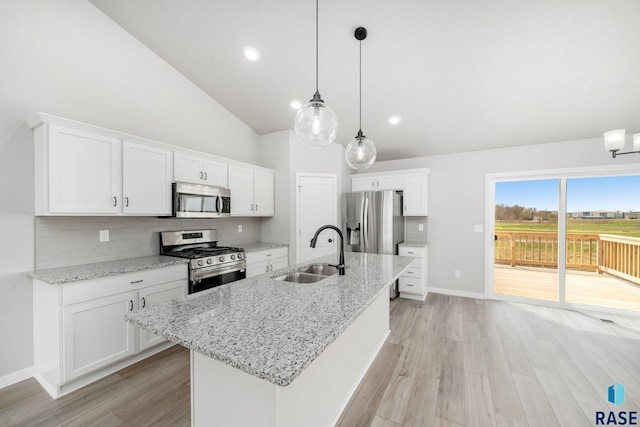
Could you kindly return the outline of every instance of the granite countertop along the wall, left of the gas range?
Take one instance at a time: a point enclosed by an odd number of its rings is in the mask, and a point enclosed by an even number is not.
[[[118,261],[96,262],[92,264],[72,265],[68,267],[49,268],[27,273],[32,279],[38,279],[51,285],[79,282],[81,280],[99,279],[117,274],[134,273],[168,267],[170,265],[187,264],[188,259],[154,255],[141,258],[129,258]]]

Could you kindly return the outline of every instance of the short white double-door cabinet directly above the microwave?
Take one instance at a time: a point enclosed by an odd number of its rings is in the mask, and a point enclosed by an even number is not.
[[[174,153],[174,179],[227,188],[227,164],[206,157]]]

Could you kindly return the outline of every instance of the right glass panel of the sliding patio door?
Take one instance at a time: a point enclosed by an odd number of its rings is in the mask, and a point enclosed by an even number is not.
[[[640,176],[567,179],[565,300],[640,310]]]

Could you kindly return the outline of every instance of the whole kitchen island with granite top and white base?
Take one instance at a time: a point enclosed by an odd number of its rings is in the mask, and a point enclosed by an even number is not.
[[[332,425],[389,333],[388,287],[412,261],[348,253],[344,276],[275,279],[306,262],[126,320],[191,350],[192,425]]]

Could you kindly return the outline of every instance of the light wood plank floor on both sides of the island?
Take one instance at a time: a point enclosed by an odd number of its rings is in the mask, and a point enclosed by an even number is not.
[[[617,409],[640,411],[640,319],[600,317],[437,294],[394,300],[391,335],[338,425],[588,426],[615,409],[614,382],[626,388]],[[0,390],[0,425],[189,422],[179,346],[56,401],[32,379]]]

